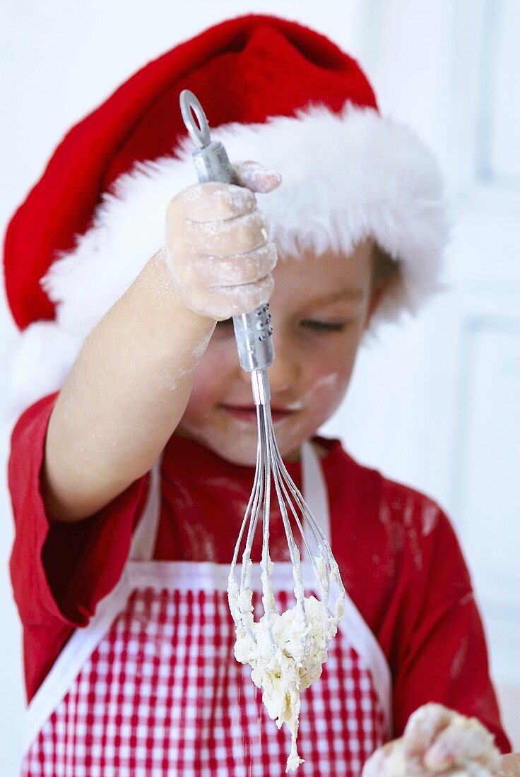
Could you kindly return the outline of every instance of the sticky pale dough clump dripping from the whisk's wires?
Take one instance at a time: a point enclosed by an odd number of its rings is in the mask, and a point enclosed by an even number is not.
[[[307,629],[302,607],[296,604],[281,615],[270,610],[258,622],[251,619],[251,632],[243,625],[236,632],[236,660],[250,664],[251,679],[263,690],[262,700],[270,718],[278,728],[285,723],[291,732],[286,771],[303,763],[296,749],[300,692],[320,677],[330,640],[337,632],[337,618],[330,615],[323,601],[313,596],[304,601]],[[303,639],[306,630],[307,638]]]

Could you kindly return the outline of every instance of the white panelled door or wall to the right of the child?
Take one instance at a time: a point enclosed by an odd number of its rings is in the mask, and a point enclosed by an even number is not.
[[[363,25],[382,108],[437,152],[455,228],[448,291],[362,354],[326,430],[452,516],[520,747],[520,5],[372,0]]]

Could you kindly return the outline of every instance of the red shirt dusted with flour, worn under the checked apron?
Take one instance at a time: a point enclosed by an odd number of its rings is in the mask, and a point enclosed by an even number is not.
[[[89,622],[117,583],[148,489],[147,475],[84,521],[50,523],[40,469],[55,399],[49,395],[23,413],[9,459],[16,521],[11,575],[29,699],[72,631]],[[508,751],[480,615],[448,518],[424,494],[355,462],[340,441],[317,441],[326,448],[333,552],[392,671],[394,734],[402,733],[414,709],[441,702],[478,717]],[[288,470],[300,486],[299,463],[288,463]],[[155,559],[229,563],[252,483],[250,467],[174,434],[162,461]],[[287,559],[277,524],[271,524],[272,556]]]

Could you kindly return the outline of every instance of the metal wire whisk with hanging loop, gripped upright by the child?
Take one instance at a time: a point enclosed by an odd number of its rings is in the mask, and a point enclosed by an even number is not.
[[[225,148],[220,141],[211,141],[208,120],[205,117],[201,103],[199,103],[193,92],[187,89],[181,92],[180,110],[187,130],[197,143],[197,148],[192,156],[199,181],[201,183],[208,181],[236,183],[235,172],[229,162]],[[194,120],[194,114],[197,117],[198,125]],[[292,533],[290,516],[302,535],[302,542],[312,563],[312,570],[316,577],[321,601],[326,606],[330,618],[335,620],[336,623],[340,618],[341,606],[344,600],[344,587],[330,545],[309,507],[305,504],[302,494],[296,488],[291,476],[289,476],[274,437],[273,421],[270,412],[270,389],[267,378],[267,368],[274,361],[273,327],[270,324],[268,302],[260,305],[260,307],[250,313],[234,316],[233,326],[240,364],[251,375],[253,399],[257,408],[258,437],[257,466],[253,490],[239,531],[229,573],[229,605],[236,628],[246,629],[250,639],[253,640],[253,643],[256,643],[256,636],[253,630],[250,574],[253,538],[261,516],[262,556],[260,568],[262,572],[263,611],[271,648],[274,653],[280,650],[280,646],[276,644],[274,639],[272,629],[272,618],[275,612],[274,594],[270,581],[273,564],[269,555],[272,481],[288,542],[292,575],[295,583],[296,606],[300,610],[304,625],[302,629],[302,646],[305,649],[309,636],[309,622],[305,610],[300,552]],[[310,545],[312,547],[309,547],[309,539],[311,540]],[[243,543],[242,571],[239,581],[236,575],[236,564]],[[332,611],[329,604],[331,580],[335,580],[338,591],[334,611]]]

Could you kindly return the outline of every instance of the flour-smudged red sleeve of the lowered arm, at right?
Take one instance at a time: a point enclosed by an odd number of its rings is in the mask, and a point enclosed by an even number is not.
[[[405,521],[410,547],[400,576],[407,577],[402,600],[407,626],[393,673],[394,735],[403,733],[417,707],[439,702],[481,720],[494,733],[497,747],[508,752],[483,624],[459,542],[437,505],[426,497],[414,501]]]

